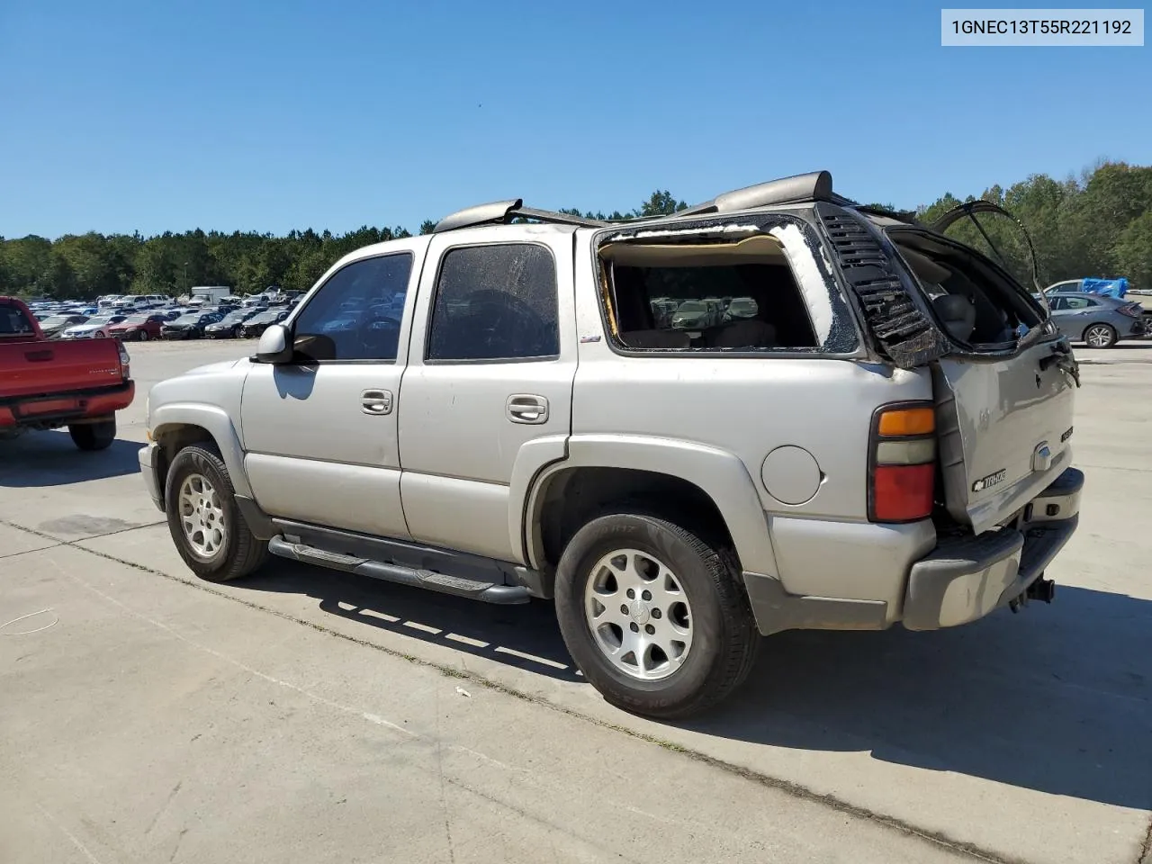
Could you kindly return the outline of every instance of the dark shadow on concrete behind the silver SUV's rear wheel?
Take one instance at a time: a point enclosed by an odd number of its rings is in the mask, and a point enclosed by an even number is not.
[[[735,698],[681,726],[1152,810],[1152,601],[1058,586],[1051,606],[953,630],[761,649]]]

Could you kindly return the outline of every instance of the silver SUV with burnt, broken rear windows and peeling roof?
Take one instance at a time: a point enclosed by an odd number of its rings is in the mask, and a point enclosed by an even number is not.
[[[714,297],[746,309],[653,310]],[[158,384],[139,461],[205,579],[271,553],[552,600],[606,699],[672,718],[761,635],[1049,600],[1076,386],[1005,270],[820,172],[621,223],[480,205],[361,249],[252,357]]]

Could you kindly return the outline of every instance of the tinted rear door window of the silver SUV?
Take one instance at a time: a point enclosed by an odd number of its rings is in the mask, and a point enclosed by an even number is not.
[[[427,358],[555,357],[556,319],[556,267],[546,248],[452,249],[440,264]]]

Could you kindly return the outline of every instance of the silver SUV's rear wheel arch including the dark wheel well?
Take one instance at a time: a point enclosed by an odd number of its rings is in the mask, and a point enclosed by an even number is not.
[[[743,569],[775,573],[767,517],[744,463],[706,445],[644,435],[573,435],[522,502],[526,563],[552,574],[567,539],[597,511],[624,501],[730,540]],[[514,505],[515,506],[515,505]]]

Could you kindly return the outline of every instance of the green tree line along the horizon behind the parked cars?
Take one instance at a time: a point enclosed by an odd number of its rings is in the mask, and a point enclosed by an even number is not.
[[[1152,288],[1152,167],[1101,162],[1063,181],[1045,174],[1007,189],[993,185],[978,196],[1014,213],[1029,229],[1037,249],[1043,285],[1081,276],[1127,276],[1132,287]],[[916,209],[931,223],[958,205],[946,194]],[[667,190],[653,192],[641,206],[622,213],[561,212],[597,219],[629,220],[674,213],[685,207]],[[890,205],[889,210],[894,209]],[[1030,283],[1031,264],[1020,230],[1005,219],[980,219],[1009,268]],[[422,234],[434,222],[425,221]],[[987,249],[986,238],[967,223],[949,233]],[[227,285],[253,293],[278,285],[306,290],[339,258],[361,247],[408,237],[402,227],[364,226],[347,234],[311,228],[286,236],[256,232],[196,230],[144,237],[97,232],[48,240],[36,235],[0,237],[0,295],[90,300],[104,294],[175,295],[197,285]]]

